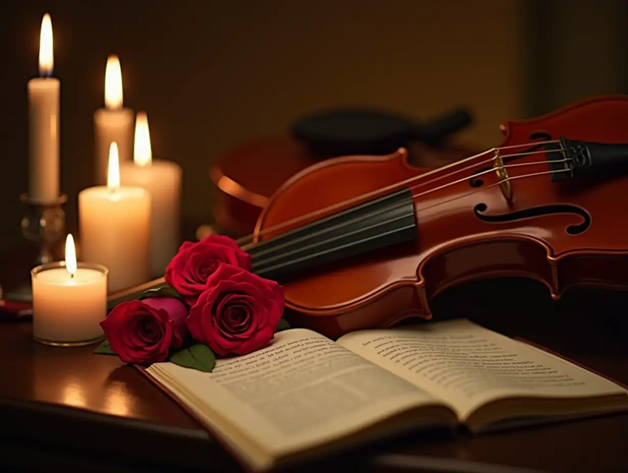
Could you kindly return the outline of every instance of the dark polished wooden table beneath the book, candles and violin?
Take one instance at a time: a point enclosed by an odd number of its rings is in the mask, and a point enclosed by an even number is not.
[[[493,281],[448,291],[435,302],[435,313],[468,316],[526,337],[628,383],[626,296],[576,294],[556,305],[535,283]],[[92,355],[93,347],[46,347],[31,335],[28,322],[0,322],[0,470],[237,468],[194,420],[117,357]],[[428,463],[414,471],[487,471],[475,462],[555,472],[628,471],[627,442],[628,415],[617,415],[475,438],[415,435],[327,460],[324,468],[401,471],[393,466],[399,457],[391,455],[409,454],[402,459]],[[440,462],[430,466],[430,459]],[[447,463],[452,460],[465,469]]]

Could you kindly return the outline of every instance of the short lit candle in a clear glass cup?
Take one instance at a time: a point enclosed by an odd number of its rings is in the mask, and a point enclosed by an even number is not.
[[[72,234],[65,241],[65,261],[31,271],[33,338],[48,345],[76,346],[103,337],[107,316],[107,268],[78,263]]]

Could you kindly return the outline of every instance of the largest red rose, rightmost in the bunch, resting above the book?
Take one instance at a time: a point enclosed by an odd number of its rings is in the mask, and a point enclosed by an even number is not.
[[[190,334],[220,356],[246,355],[273,340],[283,288],[246,269],[219,264],[186,319]]]

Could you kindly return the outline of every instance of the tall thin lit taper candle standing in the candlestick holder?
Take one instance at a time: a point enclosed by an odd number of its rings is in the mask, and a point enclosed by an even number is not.
[[[33,200],[52,202],[59,197],[59,90],[51,77],[54,66],[52,23],[41,20],[39,75],[28,81],[28,193]]]

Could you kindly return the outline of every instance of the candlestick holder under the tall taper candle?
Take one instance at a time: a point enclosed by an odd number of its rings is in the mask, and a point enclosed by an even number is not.
[[[19,200],[26,204],[26,212],[21,220],[22,235],[28,241],[32,241],[38,248],[38,255],[33,266],[48,264],[54,261],[52,248],[65,233],[65,212],[63,204],[68,201],[68,196],[60,195],[56,200],[44,202],[31,198],[28,193],[19,196]],[[7,298],[30,302],[33,300],[30,284],[21,286]]]

